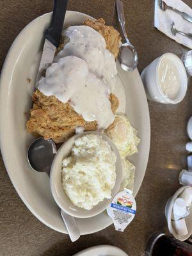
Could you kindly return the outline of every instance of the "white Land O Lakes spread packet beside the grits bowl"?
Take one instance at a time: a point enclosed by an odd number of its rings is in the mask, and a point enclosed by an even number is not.
[[[107,208],[109,217],[113,220],[115,229],[124,232],[136,214],[136,202],[132,191],[124,189],[113,198]]]

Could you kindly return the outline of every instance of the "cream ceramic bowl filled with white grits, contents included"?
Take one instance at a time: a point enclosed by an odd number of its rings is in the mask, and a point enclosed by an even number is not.
[[[100,132],[67,140],[51,166],[51,192],[59,207],[77,218],[104,211],[118,193],[122,163],[115,144]]]

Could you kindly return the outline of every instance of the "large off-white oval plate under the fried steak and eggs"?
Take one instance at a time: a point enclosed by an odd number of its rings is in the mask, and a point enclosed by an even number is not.
[[[68,11],[65,26],[81,24],[88,15]],[[91,18],[92,19],[92,18]],[[39,52],[42,50],[43,31],[49,25],[51,13],[46,13],[22,29],[6,56],[0,82],[1,152],[13,186],[31,212],[48,227],[67,234],[60,209],[51,195],[46,173],[31,170],[26,152],[34,137],[26,133],[26,121],[31,108],[31,88],[35,83]],[[31,70],[33,67],[33,70]],[[150,119],[147,98],[138,70],[118,74],[125,88],[126,110],[131,124],[138,129],[141,143],[139,153],[131,157],[136,165],[134,196],[140,189],[147,168],[150,148]],[[27,81],[31,78],[31,83]],[[86,225],[85,225],[86,223]],[[77,219],[81,234],[91,234],[111,225],[111,218],[102,212],[93,218]]]

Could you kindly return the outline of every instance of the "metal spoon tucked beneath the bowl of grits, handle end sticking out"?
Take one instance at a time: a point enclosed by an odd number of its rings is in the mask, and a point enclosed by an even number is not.
[[[37,172],[45,172],[50,175],[51,164],[57,152],[56,145],[53,140],[44,140],[38,138],[29,145],[28,161],[31,168]],[[63,210],[61,210],[61,217],[65,223],[68,235],[72,242],[79,239],[81,236],[76,220]]]

